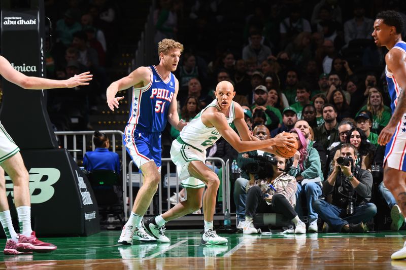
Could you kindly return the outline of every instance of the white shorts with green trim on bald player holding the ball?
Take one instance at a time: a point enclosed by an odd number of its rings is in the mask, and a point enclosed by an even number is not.
[[[206,184],[201,180],[191,177],[188,171],[190,162],[206,161],[206,150],[200,152],[199,150],[183,143],[179,143],[177,140],[172,142],[171,146],[171,159],[176,165],[179,179],[182,180],[183,187],[189,188],[202,188]]]

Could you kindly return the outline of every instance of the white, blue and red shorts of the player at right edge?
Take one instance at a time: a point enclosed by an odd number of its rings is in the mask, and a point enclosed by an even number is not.
[[[385,148],[384,164],[388,167],[406,172],[406,114],[396,126],[389,143]]]

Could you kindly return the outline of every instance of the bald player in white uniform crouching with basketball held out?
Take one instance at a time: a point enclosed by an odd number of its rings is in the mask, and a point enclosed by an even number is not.
[[[206,149],[220,137],[224,137],[239,152],[257,149],[274,152],[270,147],[272,145],[294,146],[295,138],[288,133],[262,141],[251,136],[244,121],[242,107],[232,101],[235,92],[230,82],[220,82],[216,87],[215,96],[216,99],[201,110],[172,143],[171,159],[177,166],[182,185],[186,188],[187,199],[164,214],[149,218],[144,222],[144,227],[159,242],[169,242],[169,239],[163,234],[167,221],[200,209],[203,199],[205,233],[201,243],[205,245],[227,243],[227,239],[219,237],[213,229],[213,215],[220,180],[217,174],[205,165]],[[230,127],[231,123],[234,123],[241,139]],[[207,190],[203,194],[205,186],[207,186]]]

